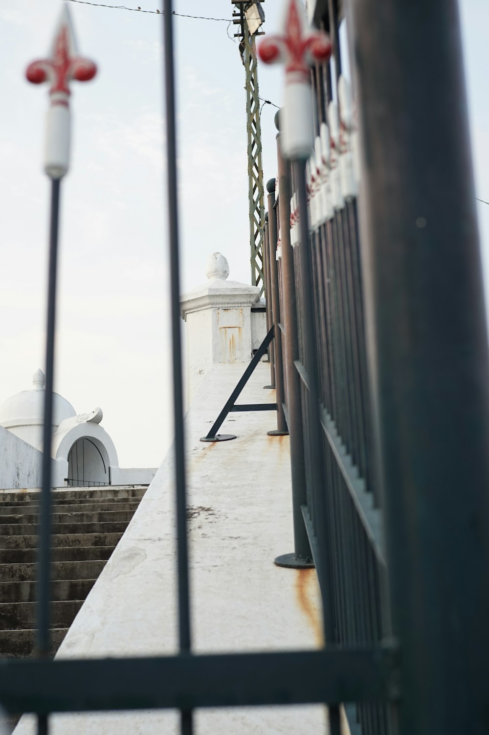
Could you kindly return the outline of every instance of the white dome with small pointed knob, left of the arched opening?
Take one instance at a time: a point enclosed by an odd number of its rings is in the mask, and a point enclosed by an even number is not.
[[[44,421],[44,384],[46,379],[42,370],[34,376],[34,389],[7,398],[0,406],[0,426],[12,429],[15,426],[40,426]],[[53,426],[59,426],[62,420],[76,416],[76,411],[66,398],[53,393]]]

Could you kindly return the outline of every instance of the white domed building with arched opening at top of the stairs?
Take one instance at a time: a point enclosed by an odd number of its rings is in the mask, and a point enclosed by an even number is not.
[[[42,370],[32,389],[0,405],[0,488],[40,487],[43,451],[44,388]],[[77,414],[59,393],[53,394],[51,442],[53,487],[149,484],[156,470],[119,467],[117,451],[101,427],[103,412]]]

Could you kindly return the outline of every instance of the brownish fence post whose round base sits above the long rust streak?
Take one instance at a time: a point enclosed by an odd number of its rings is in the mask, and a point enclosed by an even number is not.
[[[275,117],[276,123],[278,116]],[[297,297],[295,291],[294,251],[290,242],[290,174],[289,164],[284,161],[277,136],[278,192],[280,240],[282,242],[282,288],[283,321],[285,336],[283,348],[287,374],[287,409],[289,411],[290,461],[292,480],[292,511],[294,522],[294,553],[286,553],[275,559],[278,566],[293,568],[314,567],[311,546],[305,530],[302,508],[306,503],[305,460],[303,435],[303,407],[300,397],[300,377],[294,365],[299,359],[297,337]]]

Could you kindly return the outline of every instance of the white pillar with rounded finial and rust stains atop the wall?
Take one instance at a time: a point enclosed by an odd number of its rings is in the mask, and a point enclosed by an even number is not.
[[[251,307],[260,301],[259,288],[228,281],[228,261],[220,253],[209,257],[206,276],[206,284],[180,298],[181,317],[186,322],[189,406],[211,365],[250,362],[256,348]]]

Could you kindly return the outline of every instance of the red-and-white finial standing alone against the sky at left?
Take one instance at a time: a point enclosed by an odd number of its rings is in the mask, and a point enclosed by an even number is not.
[[[68,172],[70,160],[70,81],[88,82],[97,73],[97,67],[76,51],[75,36],[68,7],[63,7],[54,34],[49,57],[33,61],[26,69],[26,77],[32,84],[51,84],[49,95],[44,170],[51,179],[60,179]]]

